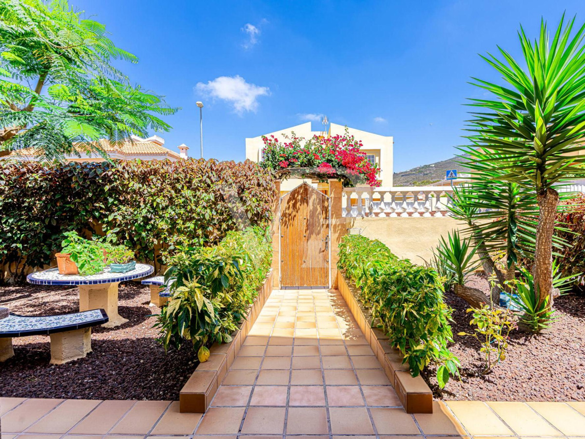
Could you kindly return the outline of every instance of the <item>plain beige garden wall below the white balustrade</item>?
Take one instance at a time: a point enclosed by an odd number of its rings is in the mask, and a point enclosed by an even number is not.
[[[430,262],[432,249],[441,236],[464,224],[452,217],[421,218],[346,218],[347,228],[353,234],[362,234],[370,239],[379,239],[398,257],[410,259],[412,263],[424,265]]]

